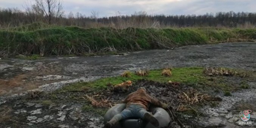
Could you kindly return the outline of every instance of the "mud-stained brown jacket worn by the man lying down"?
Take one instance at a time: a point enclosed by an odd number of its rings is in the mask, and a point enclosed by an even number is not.
[[[146,110],[148,110],[149,105],[154,105],[158,107],[162,107],[163,103],[158,99],[152,98],[147,94],[143,89],[138,89],[137,91],[130,93],[126,99],[124,100],[126,106],[131,104],[139,104],[142,105]]]

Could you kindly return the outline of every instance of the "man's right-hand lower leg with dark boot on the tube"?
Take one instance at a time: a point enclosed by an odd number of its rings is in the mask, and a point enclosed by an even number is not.
[[[158,120],[151,114],[149,113],[146,109],[141,108],[139,111],[139,116],[141,119],[150,122],[154,126],[159,126]]]

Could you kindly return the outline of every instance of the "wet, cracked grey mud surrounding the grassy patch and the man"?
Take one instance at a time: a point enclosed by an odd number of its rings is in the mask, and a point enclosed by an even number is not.
[[[157,69],[167,65],[217,66],[256,69],[256,43],[225,43],[193,45],[173,50],[150,50],[125,53],[120,56],[47,57],[39,60],[0,60],[0,124],[6,127],[94,127],[102,126],[102,116],[82,111],[83,103],[72,101],[45,103],[47,99],[22,95],[26,90],[53,91],[67,83],[90,81],[116,76],[124,70],[138,68]],[[256,106],[256,82],[250,81],[247,90],[238,90],[231,97],[222,98],[218,106],[202,107],[203,118],[184,115],[194,120],[197,127],[240,127],[237,125],[239,109]],[[241,106],[242,105],[242,106]],[[244,105],[244,106],[243,106]],[[251,106],[251,107],[250,107]],[[255,108],[256,110],[256,108]],[[256,126],[253,113],[251,119]],[[187,125],[190,127],[189,125]]]

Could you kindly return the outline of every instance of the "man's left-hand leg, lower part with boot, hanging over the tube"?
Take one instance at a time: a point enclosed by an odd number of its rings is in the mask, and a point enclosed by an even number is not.
[[[132,117],[133,113],[131,109],[126,108],[120,114],[116,114],[111,120],[109,120],[103,128],[111,128],[115,123],[119,122],[120,120],[127,119]]]

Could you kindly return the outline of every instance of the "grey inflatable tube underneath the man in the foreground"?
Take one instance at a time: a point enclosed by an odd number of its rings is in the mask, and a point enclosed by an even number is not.
[[[125,108],[125,103],[117,104],[110,108],[104,116],[104,124],[106,124],[107,121],[112,119],[112,117],[116,114],[121,113],[121,111],[123,111]],[[158,120],[158,127],[153,126],[149,122],[140,121],[139,119],[125,119],[116,123],[112,128],[164,128],[167,127],[171,122],[169,114],[163,108],[150,107],[149,112],[151,112],[153,116]]]

